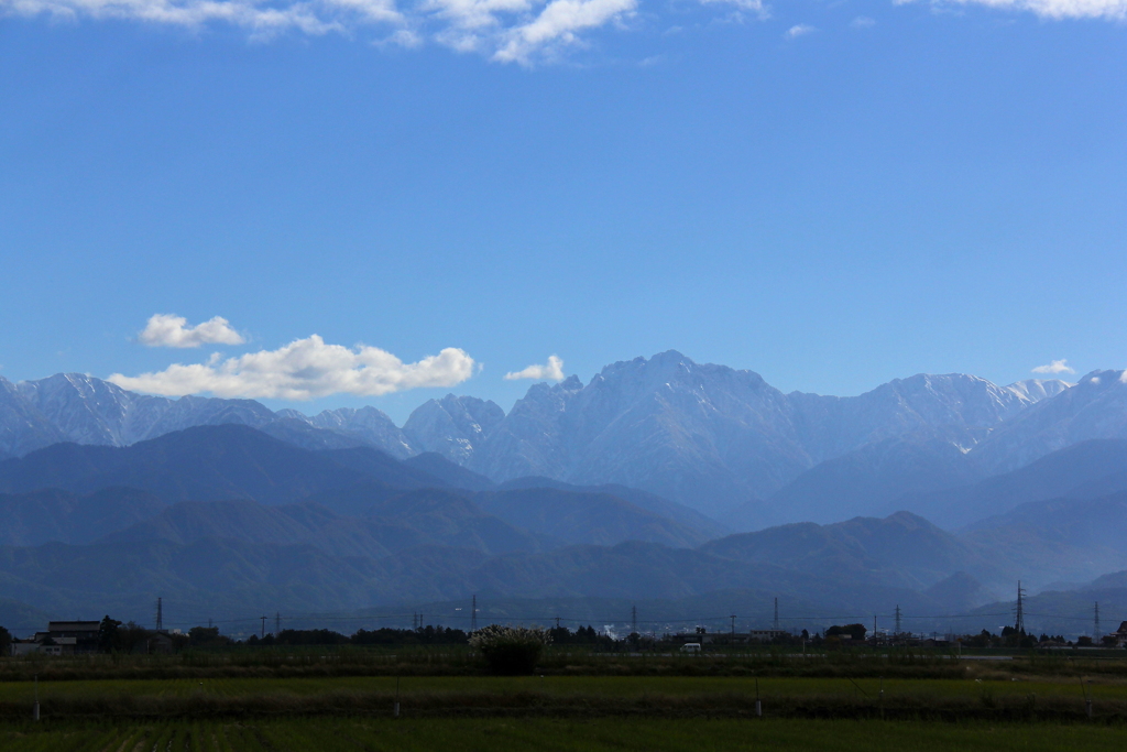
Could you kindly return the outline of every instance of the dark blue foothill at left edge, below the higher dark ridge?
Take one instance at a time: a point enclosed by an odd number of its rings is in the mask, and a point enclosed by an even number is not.
[[[87,496],[56,488],[0,494],[0,546],[88,543],[156,516],[166,506],[153,494],[133,488],[106,488]]]

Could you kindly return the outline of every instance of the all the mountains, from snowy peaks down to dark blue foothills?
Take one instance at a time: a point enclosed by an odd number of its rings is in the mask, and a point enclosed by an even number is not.
[[[1073,592],[1127,569],[1124,494],[1118,371],[838,398],[669,352],[534,384],[507,414],[449,395],[402,427],[0,379],[0,613],[473,593],[965,612],[1018,580]]]

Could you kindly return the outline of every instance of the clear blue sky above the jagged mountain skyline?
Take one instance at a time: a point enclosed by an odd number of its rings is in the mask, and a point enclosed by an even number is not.
[[[994,5],[0,0],[0,375],[1124,368],[1127,2]]]

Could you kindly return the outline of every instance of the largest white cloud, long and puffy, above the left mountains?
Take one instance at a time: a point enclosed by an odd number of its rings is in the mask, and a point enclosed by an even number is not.
[[[329,395],[374,397],[419,387],[453,387],[473,375],[473,359],[447,347],[418,363],[403,363],[379,347],[327,345],[316,334],[285,347],[206,363],[175,364],[156,373],[108,381],[123,389],[168,397],[211,392],[216,397],[305,400]]]

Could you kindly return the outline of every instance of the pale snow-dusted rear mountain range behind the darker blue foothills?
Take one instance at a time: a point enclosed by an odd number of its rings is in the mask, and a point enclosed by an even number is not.
[[[396,459],[432,452],[498,484],[530,476],[618,484],[754,529],[844,519],[871,511],[854,502],[957,486],[1084,439],[1127,437],[1121,373],[1095,372],[1068,387],[920,374],[858,397],[787,395],[752,371],[669,351],[607,365],[586,386],[575,377],[534,384],[507,414],[447,395],[420,405],[400,428],[373,407],[307,416],[56,374],[0,379],[0,457],[62,441],[124,446],[193,426],[241,424],[305,449],[369,446]],[[825,498],[827,484],[848,492]]]

